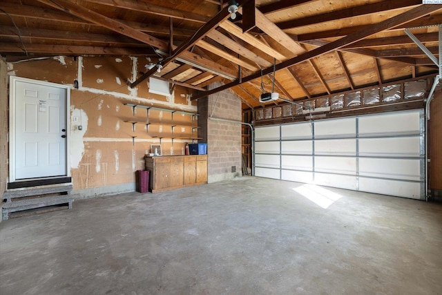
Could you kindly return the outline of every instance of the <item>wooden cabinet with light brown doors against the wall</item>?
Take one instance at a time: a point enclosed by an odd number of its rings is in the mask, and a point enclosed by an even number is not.
[[[207,183],[207,155],[146,155],[144,160],[152,192]]]

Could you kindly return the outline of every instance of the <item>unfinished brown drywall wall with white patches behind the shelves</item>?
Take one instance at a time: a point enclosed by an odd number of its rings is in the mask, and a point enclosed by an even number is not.
[[[174,134],[191,135],[191,115],[181,115],[132,108],[125,104],[141,104],[158,108],[196,113],[196,102],[191,102],[187,89],[173,88],[169,96],[148,93],[148,79],[136,88],[138,73],[150,64],[148,59],[115,57],[56,57],[6,64],[1,62],[1,154],[2,171],[6,166],[6,96],[8,75],[70,86],[70,166],[73,186],[82,197],[99,196],[135,190],[135,171],[144,169],[144,155],[151,144],[160,144],[164,155],[182,155],[189,140],[167,137],[171,133],[172,116],[178,122]],[[3,70],[4,69],[4,70]],[[77,86],[78,85],[78,86]],[[78,88],[75,88],[77,86]],[[148,120],[155,124],[147,125]],[[137,122],[133,124],[132,122]],[[182,126],[180,125],[182,123]],[[79,128],[81,126],[81,130]],[[6,149],[7,150],[7,149]],[[0,189],[6,187],[6,175],[1,175]]]

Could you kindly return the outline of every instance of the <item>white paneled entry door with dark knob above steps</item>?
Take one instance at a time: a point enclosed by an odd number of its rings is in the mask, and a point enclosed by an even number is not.
[[[10,180],[67,176],[68,89],[11,78],[12,175]]]

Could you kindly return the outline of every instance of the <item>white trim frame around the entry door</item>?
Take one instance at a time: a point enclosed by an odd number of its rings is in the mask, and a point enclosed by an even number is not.
[[[16,87],[15,82],[25,82],[32,84],[39,84],[41,86],[50,86],[55,88],[66,89],[66,175],[55,176],[53,178],[66,178],[70,177],[70,86],[63,84],[56,84],[52,82],[44,82],[35,79],[28,79],[23,77],[9,76],[9,175],[8,182],[22,182],[30,180],[39,180],[42,178],[27,178],[26,180],[16,180],[15,179],[15,96]],[[50,177],[49,177],[50,178]],[[44,179],[48,179],[45,177]]]

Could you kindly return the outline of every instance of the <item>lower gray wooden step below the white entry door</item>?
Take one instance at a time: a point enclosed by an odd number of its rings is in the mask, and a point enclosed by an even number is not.
[[[72,209],[72,203],[76,195],[61,195],[32,198],[26,200],[16,200],[13,202],[5,202],[2,205],[3,220],[8,220],[9,213],[17,211],[25,211],[41,207],[50,207],[59,204],[67,204],[68,209]]]

